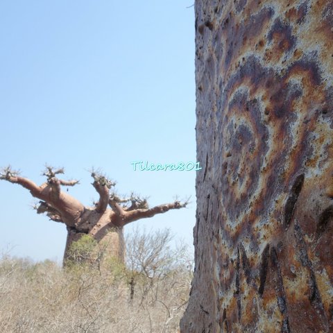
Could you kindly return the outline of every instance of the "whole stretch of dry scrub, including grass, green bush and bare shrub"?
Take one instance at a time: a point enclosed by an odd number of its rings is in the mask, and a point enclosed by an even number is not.
[[[3,255],[0,332],[178,332],[193,261],[186,246],[170,247],[171,238],[169,230],[136,230],[126,238],[126,264],[89,260],[96,246],[89,239],[73,248],[84,259],[66,268]]]

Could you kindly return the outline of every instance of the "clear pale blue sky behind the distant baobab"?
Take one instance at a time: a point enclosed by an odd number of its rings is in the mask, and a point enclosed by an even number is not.
[[[196,171],[130,162],[196,162],[193,2],[1,1],[0,166],[39,184],[46,163],[65,167],[85,205],[98,198],[91,167],[151,205],[191,196],[187,209],[126,227],[168,227],[191,245]],[[65,225],[37,215],[18,185],[2,180],[0,198],[0,250],[60,261]]]

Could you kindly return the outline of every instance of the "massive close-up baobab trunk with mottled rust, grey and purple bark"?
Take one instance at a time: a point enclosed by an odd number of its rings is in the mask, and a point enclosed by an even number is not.
[[[333,3],[196,0],[182,332],[333,332]]]

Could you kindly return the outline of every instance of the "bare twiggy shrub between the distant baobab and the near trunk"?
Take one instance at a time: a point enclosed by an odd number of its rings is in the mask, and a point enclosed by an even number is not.
[[[189,297],[194,259],[187,244],[171,248],[172,240],[169,229],[146,232],[136,228],[126,237],[130,302],[147,312],[150,332],[157,332],[155,321],[164,323],[159,332],[176,327],[175,321],[185,311]],[[162,307],[158,318],[151,314],[152,307]]]

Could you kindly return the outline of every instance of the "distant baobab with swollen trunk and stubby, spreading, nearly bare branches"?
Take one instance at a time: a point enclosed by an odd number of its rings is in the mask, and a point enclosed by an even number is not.
[[[54,170],[46,167],[44,176],[47,180],[38,186],[33,181],[18,176],[16,171],[7,167],[0,173],[0,180],[7,180],[25,187],[32,196],[40,199],[40,203],[35,207],[37,214],[46,213],[52,221],[65,223],[67,242],[64,264],[69,259],[71,244],[85,234],[89,234],[98,243],[103,243],[106,255],[118,257],[123,261],[124,225],[187,205],[187,202],[180,203],[176,200],[173,203],[148,208],[146,199],[133,195],[130,198],[119,198],[110,191],[115,183],[100,173],[92,171],[92,178],[94,178],[92,185],[99,194],[99,201],[94,204],[94,207],[87,207],[66,191],[61,190],[61,186],[78,184],[76,180],[59,179],[57,175],[62,173],[64,169]]]

